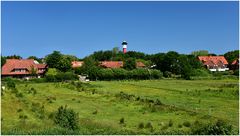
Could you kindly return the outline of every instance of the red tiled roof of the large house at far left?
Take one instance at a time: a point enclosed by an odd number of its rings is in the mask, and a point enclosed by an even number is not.
[[[35,63],[33,59],[7,59],[2,67],[2,75],[26,75],[30,74],[31,68],[44,69],[46,64]],[[14,69],[24,69],[25,71],[13,71]],[[38,74],[44,71],[37,71]]]

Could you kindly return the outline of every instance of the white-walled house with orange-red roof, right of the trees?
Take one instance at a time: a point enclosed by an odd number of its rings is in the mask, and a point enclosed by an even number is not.
[[[198,59],[210,71],[226,71],[229,70],[228,62],[224,56],[198,56]]]

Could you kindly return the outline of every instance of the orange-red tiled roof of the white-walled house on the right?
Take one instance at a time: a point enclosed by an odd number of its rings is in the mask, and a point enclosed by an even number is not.
[[[203,64],[205,65],[205,63],[207,63],[208,61],[211,61],[213,64],[217,65],[219,63],[223,63],[224,65],[227,65],[228,62],[227,60],[224,58],[224,56],[198,56],[198,59],[200,61],[203,62]],[[209,63],[209,62],[208,62]]]

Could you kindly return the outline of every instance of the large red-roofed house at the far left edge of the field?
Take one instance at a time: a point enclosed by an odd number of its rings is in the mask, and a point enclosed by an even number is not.
[[[47,70],[46,64],[39,64],[34,59],[7,59],[2,66],[2,77],[32,78],[42,77]],[[33,74],[36,74],[33,76]]]

